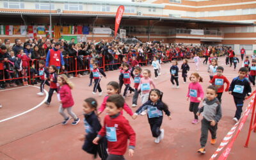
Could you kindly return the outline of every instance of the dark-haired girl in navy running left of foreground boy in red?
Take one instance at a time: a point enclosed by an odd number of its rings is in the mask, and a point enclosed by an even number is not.
[[[94,158],[99,154],[102,160],[106,160],[108,157],[107,140],[102,137],[99,141],[99,145],[92,143],[94,138],[97,137],[97,133],[101,129],[101,125],[95,111],[97,111],[97,101],[93,98],[85,99],[83,102],[84,111],[84,127],[86,136],[81,137],[80,140],[84,141],[83,150],[88,154],[93,154]]]

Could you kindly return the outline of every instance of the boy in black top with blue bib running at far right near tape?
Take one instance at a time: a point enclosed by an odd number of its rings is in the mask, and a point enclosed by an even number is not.
[[[238,77],[235,77],[228,89],[229,93],[233,95],[236,104],[236,115],[233,120],[238,122],[243,111],[244,99],[246,99],[252,92],[252,88],[248,79],[245,78],[248,70],[241,67],[238,72]]]

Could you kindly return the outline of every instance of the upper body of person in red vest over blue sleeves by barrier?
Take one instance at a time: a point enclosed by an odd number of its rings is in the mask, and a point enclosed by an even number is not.
[[[65,70],[65,62],[63,60],[62,53],[60,51],[60,43],[57,42],[53,49],[49,49],[46,56],[46,67],[55,65],[58,69],[62,66],[62,70]]]

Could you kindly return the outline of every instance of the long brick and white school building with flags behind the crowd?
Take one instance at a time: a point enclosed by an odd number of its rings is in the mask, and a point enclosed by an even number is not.
[[[51,15],[54,38],[111,40],[121,4],[120,29],[141,42],[229,45],[236,53],[244,47],[247,54],[256,50],[253,0],[0,1],[0,38],[45,37]]]

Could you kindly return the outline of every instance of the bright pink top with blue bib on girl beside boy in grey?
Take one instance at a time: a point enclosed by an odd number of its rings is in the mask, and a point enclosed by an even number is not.
[[[198,97],[204,99],[204,90],[198,82],[189,83],[187,97],[190,97],[190,102],[200,102],[197,100]]]

